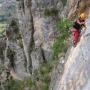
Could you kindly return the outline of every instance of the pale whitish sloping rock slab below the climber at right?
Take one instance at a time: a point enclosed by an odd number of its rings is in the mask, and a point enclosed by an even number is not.
[[[87,20],[87,30],[82,35],[77,47],[71,48],[65,64],[62,78],[57,87],[51,90],[89,90],[90,89],[90,18]],[[55,86],[55,85],[54,85]]]

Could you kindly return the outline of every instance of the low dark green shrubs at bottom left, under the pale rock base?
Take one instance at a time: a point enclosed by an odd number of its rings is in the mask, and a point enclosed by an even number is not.
[[[29,90],[32,90],[31,88],[34,86],[34,82],[31,78],[24,80],[24,81],[18,81],[18,80],[9,80],[5,85],[5,90],[25,90],[25,88],[28,88]],[[35,90],[35,88],[33,89]]]

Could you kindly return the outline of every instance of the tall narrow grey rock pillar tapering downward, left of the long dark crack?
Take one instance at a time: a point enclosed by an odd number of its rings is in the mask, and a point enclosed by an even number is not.
[[[33,49],[33,18],[31,13],[31,0],[18,0],[18,18],[20,30],[22,33],[22,40],[24,45],[24,52],[27,60],[27,71],[30,72],[32,68],[31,50]],[[30,48],[31,47],[31,48]]]

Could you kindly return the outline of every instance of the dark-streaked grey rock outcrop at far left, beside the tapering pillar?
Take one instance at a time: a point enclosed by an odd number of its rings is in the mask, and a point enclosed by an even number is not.
[[[6,37],[0,38],[0,89],[4,90],[9,80],[24,80],[30,77],[26,71],[18,20],[12,19],[6,28]]]

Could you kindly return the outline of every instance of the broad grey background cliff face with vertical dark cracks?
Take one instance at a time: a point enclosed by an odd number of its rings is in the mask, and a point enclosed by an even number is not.
[[[24,79],[42,63],[52,60],[51,47],[58,34],[56,21],[63,3],[61,0],[11,0],[9,6],[11,2],[16,4],[18,20],[16,23],[12,20],[5,40],[0,40],[0,45],[3,44],[0,46],[0,63],[13,78]]]

